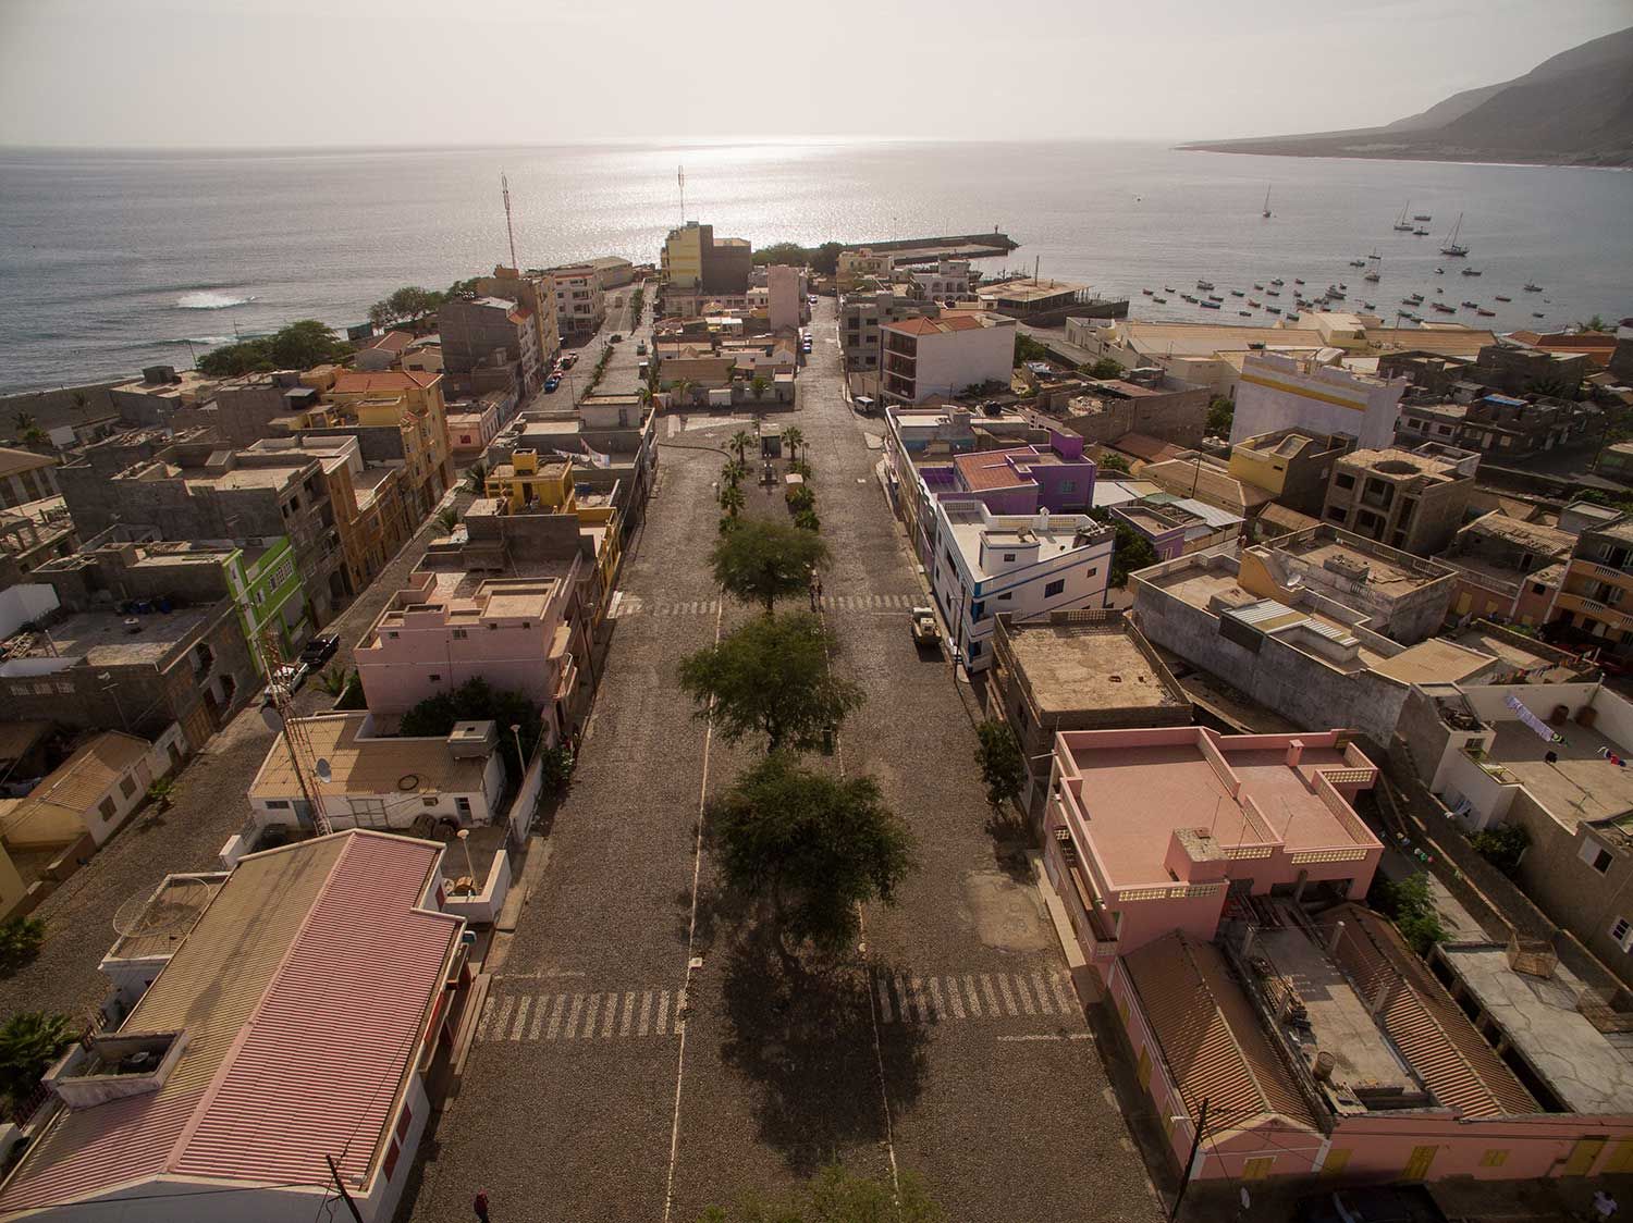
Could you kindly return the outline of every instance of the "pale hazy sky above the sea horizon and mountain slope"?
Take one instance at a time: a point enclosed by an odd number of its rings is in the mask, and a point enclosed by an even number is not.
[[[1633,0],[0,0],[0,144],[1269,136],[1628,24]]]

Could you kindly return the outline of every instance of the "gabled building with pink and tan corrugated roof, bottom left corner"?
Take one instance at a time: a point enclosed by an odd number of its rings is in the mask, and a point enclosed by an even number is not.
[[[126,936],[105,962],[147,965],[127,975],[134,1006],[47,1073],[0,1215],[305,1220],[335,1194],[333,1159],[358,1218],[390,1220],[470,985],[441,857],[336,833],[225,878],[170,877],[150,901],[165,936]]]

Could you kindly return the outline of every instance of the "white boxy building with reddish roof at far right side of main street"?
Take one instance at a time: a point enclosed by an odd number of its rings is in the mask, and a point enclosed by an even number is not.
[[[1016,320],[993,314],[944,314],[882,323],[882,390],[893,403],[959,395],[981,382],[1009,385]]]

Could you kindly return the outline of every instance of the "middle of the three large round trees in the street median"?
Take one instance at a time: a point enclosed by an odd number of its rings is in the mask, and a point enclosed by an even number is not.
[[[764,735],[766,751],[812,751],[865,699],[828,665],[834,647],[812,612],[756,616],[683,658],[681,689],[727,743]]]

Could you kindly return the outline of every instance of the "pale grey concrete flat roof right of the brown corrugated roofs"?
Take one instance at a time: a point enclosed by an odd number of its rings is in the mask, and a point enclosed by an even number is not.
[[[1563,963],[1553,976],[1519,973],[1506,947],[1442,944],[1463,983],[1507,1042],[1573,1110],[1633,1114],[1633,1032],[1605,1034],[1576,1009],[1582,983]]]

